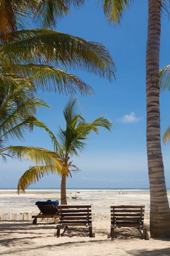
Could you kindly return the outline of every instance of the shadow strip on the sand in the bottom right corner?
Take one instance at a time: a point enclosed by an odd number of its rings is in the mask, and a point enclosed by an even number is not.
[[[170,255],[170,247],[156,250],[136,250],[135,252],[127,251],[127,255],[131,256],[168,256]]]

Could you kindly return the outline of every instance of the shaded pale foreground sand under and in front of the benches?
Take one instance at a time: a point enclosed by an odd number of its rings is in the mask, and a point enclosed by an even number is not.
[[[145,221],[147,228],[149,222]],[[93,221],[95,238],[88,229],[70,228],[54,237],[56,225],[49,222],[1,221],[0,255],[11,256],[167,256],[170,239],[141,239],[137,229],[120,229],[117,239],[107,239],[110,221]]]

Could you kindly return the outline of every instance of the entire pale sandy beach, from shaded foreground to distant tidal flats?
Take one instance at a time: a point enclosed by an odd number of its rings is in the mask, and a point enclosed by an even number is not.
[[[79,200],[71,200],[75,189],[68,189],[68,204],[91,204],[96,219],[101,214],[110,214],[110,205],[145,205],[144,225],[149,232],[150,195],[147,189],[81,189]],[[70,194],[72,193],[72,194]],[[124,194],[125,193],[125,194]],[[127,194],[126,194],[127,193]],[[57,189],[30,189],[17,195],[15,189],[0,190],[0,212],[34,212],[35,202],[48,198],[59,198]],[[168,190],[168,198],[170,191]],[[0,255],[12,256],[167,256],[170,255],[170,239],[142,239],[141,233],[133,228],[117,229],[117,238],[107,238],[111,222],[105,219],[93,221],[95,238],[89,238],[88,229],[75,227],[61,230],[59,238],[54,237],[56,225],[51,221],[0,221]],[[70,251],[71,250],[71,251]]]

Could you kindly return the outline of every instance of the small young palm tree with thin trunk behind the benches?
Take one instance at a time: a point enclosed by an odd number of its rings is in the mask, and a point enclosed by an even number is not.
[[[59,127],[57,137],[53,139],[54,151],[60,156],[63,165],[68,170],[68,174],[71,175],[71,171],[79,171],[79,168],[75,166],[70,158],[72,156],[78,156],[78,152],[82,152],[86,143],[84,140],[88,140],[88,136],[92,131],[96,134],[99,132],[99,127],[104,127],[111,131],[112,123],[109,119],[105,119],[105,116],[99,116],[93,122],[88,122],[82,117],[82,112],[79,106],[78,98],[70,98],[65,105],[64,118],[66,121],[66,128],[63,130]],[[58,139],[57,139],[58,138]],[[39,180],[41,176],[53,173],[53,169],[48,166],[34,166],[28,169],[20,178],[18,182],[18,192],[23,191],[32,183]],[[61,204],[67,204],[66,199],[66,177],[62,175],[61,180]]]

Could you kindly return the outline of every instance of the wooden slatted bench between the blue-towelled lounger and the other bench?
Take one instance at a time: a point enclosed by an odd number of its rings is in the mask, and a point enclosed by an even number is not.
[[[59,224],[54,236],[60,236],[60,229],[65,227],[85,226],[89,228],[89,236],[95,237],[92,230],[91,205],[58,205]]]

